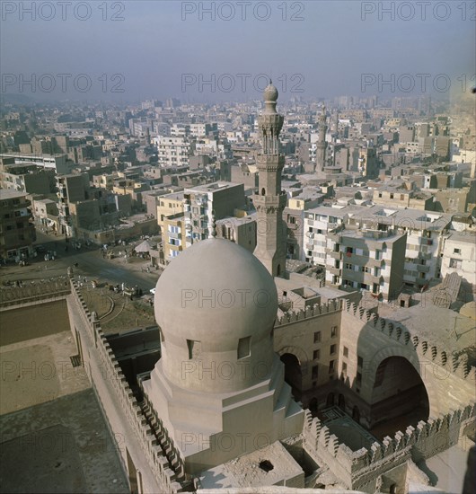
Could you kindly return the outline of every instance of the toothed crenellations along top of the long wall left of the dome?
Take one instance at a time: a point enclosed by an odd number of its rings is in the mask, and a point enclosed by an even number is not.
[[[91,339],[92,346],[98,352],[102,379],[121,404],[128,424],[134,430],[136,439],[145,454],[148,466],[168,492],[182,492],[182,483],[185,481],[184,466],[178,449],[174,447],[172,439],[160,427],[160,420],[154,416],[148,405],[137,402],[101,329],[97,314],[89,311],[75,281],[71,279],[70,283],[71,295],[84,322],[83,327]],[[93,376],[89,375],[89,377],[93,381]],[[97,395],[101,401],[101,394],[97,393]],[[108,415],[104,415],[108,419]]]

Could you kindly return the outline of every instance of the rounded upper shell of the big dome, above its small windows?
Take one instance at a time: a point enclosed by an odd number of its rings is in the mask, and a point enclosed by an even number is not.
[[[208,341],[226,351],[240,338],[269,335],[278,293],[251,252],[229,240],[209,239],[181,252],[163,271],[154,310],[165,341]]]

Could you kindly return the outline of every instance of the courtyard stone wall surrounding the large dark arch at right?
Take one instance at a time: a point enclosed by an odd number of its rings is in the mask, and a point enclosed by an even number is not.
[[[387,321],[356,304],[344,304],[341,325],[340,351],[348,348],[348,357],[342,358],[347,362],[346,375],[342,362],[339,375],[368,404],[378,401],[374,395],[376,373],[388,357],[404,357],[417,370],[428,393],[430,417],[474,401],[476,369],[468,366],[465,355],[452,356],[447,348],[420,340],[403,324]]]

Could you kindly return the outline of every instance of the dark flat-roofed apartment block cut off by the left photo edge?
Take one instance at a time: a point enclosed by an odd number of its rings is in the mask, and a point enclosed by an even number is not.
[[[26,196],[0,189],[0,257],[4,259],[27,258],[33,253],[36,231]]]

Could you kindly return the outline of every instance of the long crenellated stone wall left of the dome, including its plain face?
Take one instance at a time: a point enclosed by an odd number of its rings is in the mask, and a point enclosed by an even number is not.
[[[104,411],[113,437],[120,438],[119,455],[129,479],[137,478],[140,492],[181,492],[180,472],[172,465],[160,437],[154,433],[146,405],[141,406],[120,370],[96,314],[90,313],[75,281],[67,296],[72,331],[78,337],[84,369]],[[129,458],[128,458],[129,457]],[[131,462],[136,472],[131,472]]]

